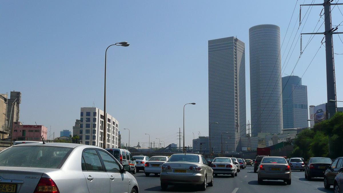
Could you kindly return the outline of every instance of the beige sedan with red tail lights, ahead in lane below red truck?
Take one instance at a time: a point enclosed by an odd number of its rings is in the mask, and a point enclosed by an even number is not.
[[[283,180],[287,185],[291,184],[291,168],[283,157],[263,157],[257,173],[259,184],[263,180]]]

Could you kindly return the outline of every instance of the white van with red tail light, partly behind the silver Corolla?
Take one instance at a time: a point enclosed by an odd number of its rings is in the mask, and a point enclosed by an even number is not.
[[[127,149],[119,148],[107,148],[107,150],[113,157],[115,157],[122,165],[130,165],[133,174],[137,172],[137,163],[135,162],[136,158],[132,158],[132,155]]]

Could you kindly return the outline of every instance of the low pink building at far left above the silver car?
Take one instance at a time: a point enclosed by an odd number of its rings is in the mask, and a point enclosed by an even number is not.
[[[20,122],[13,122],[14,141],[42,141],[40,136],[46,140],[48,128],[43,125],[21,125]]]

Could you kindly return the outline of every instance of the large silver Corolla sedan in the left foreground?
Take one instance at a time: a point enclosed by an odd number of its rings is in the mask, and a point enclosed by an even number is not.
[[[34,143],[0,152],[0,186],[10,193],[138,193],[129,170],[89,145]]]

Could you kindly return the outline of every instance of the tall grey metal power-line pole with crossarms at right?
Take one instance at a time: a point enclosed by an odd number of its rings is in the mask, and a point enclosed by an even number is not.
[[[343,5],[343,3],[331,3],[330,0],[324,0],[322,4],[303,4],[304,5],[322,5],[324,6],[324,24],[325,32],[321,33],[301,33],[303,34],[324,34],[325,35],[325,52],[326,52],[326,85],[327,85],[327,99],[328,99],[328,119],[336,113],[337,102],[329,102],[329,100],[336,101],[336,82],[335,82],[335,67],[332,46],[332,34],[342,34],[343,32],[334,32],[338,27],[332,28],[331,24],[331,5]],[[299,23],[300,25],[300,23]]]

